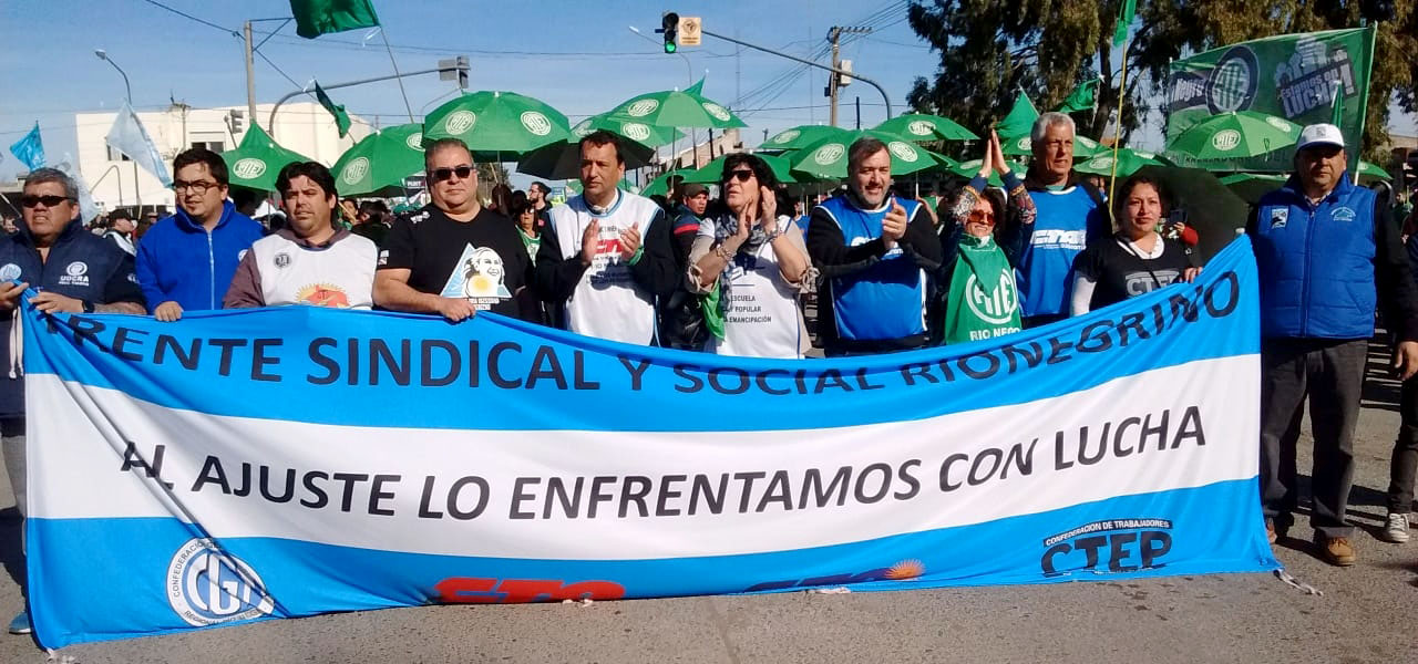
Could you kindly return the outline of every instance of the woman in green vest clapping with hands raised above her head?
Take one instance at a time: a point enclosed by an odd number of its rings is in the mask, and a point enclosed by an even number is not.
[[[998,171],[1010,193],[1008,211],[998,190],[987,188],[991,171]],[[934,279],[934,321],[939,344],[960,344],[1003,337],[1022,328],[1020,292],[1014,283],[1014,258],[995,241],[997,222],[1027,224],[1034,218],[1034,200],[1020,177],[1010,171],[991,132],[980,173],[960,188],[953,204],[940,215],[940,244],[944,261]]]

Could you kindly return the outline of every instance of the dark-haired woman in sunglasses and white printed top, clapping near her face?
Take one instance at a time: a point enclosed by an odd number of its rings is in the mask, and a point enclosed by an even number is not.
[[[797,296],[817,279],[803,235],[777,214],[777,185],[753,154],[723,163],[723,204],[699,224],[689,249],[689,289],[705,296],[709,353],[800,358],[811,345]]]

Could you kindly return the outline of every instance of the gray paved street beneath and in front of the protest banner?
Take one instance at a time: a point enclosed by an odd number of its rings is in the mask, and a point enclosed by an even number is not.
[[[1378,347],[1374,347],[1375,350]],[[1360,562],[1316,559],[1297,527],[1278,555],[1323,590],[1272,575],[786,593],[525,606],[441,606],[267,622],[65,648],[81,663],[284,661],[1418,661],[1418,542],[1374,539],[1383,522],[1397,384],[1371,355],[1351,518]],[[1302,469],[1307,452],[1302,442]],[[0,483],[3,483],[0,476]],[[9,487],[0,488],[9,505]],[[1302,524],[1305,520],[1300,520]],[[18,520],[0,513],[0,612],[20,607]],[[101,588],[101,583],[98,585]],[[0,636],[0,661],[41,663],[27,637]]]

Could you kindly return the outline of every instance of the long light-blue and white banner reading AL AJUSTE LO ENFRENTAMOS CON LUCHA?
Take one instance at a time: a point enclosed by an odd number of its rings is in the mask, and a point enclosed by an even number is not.
[[[47,647],[441,602],[1276,568],[1249,241],[925,351],[720,358],[496,316],[24,313]]]

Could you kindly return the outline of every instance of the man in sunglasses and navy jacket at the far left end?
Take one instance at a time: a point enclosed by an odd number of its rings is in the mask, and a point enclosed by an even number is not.
[[[55,168],[38,168],[26,178],[20,197],[23,218],[14,235],[0,239],[0,443],[20,515],[26,513],[24,370],[18,323],[20,297],[27,287],[40,293],[30,303],[44,313],[116,311],[142,314],[143,293],[133,276],[133,256],[112,241],[86,232],[78,221],[78,188]],[[21,530],[23,532],[23,530]],[[30,631],[21,612],[10,631]]]

